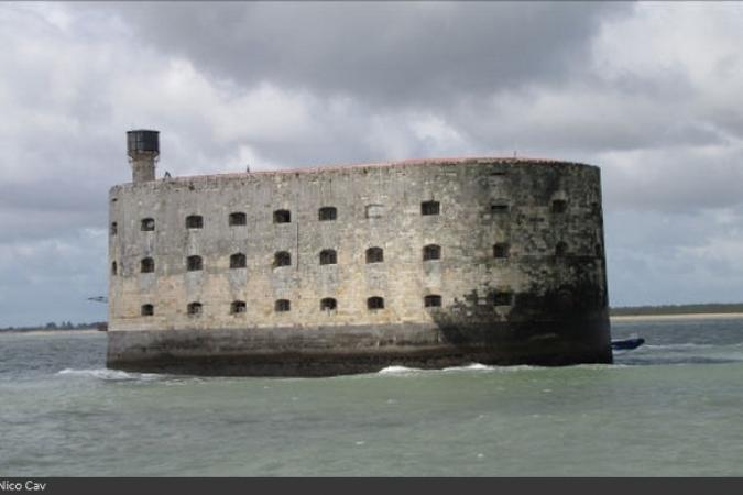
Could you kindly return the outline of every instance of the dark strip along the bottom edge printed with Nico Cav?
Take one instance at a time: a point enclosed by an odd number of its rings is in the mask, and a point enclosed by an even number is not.
[[[12,486],[11,486],[12,484]],[[43,484],[43,490],[41,486]],[[3,488],[4,486],[4,488]],[[13,490],[8,490],[11,487]],[[20,487],[18,491],[15,488]],[[33,490],[36,488],[36,490]],[[323,479],[323,477],[0,477],[0,494],[54,495],[674,495],[743,493],[743,477],[635,479],[635,477],[427,477],[427,479]]]

